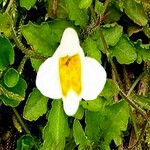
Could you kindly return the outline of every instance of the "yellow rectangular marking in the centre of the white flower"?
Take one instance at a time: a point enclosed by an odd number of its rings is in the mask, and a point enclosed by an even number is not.
[[[63,96],[67,96],[70,90],[81,93],[81,60],[80,55],[60,57],[59,77]]]

